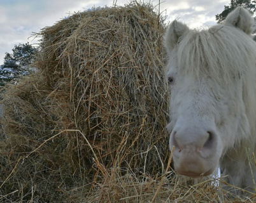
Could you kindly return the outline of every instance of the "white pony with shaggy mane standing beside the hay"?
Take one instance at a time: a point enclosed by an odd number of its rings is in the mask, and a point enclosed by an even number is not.
[[[255,192],[256,45],[253,19],[236,8],[222,25],[190,30],[171,23],[164,37],[171,86],[169,146],[175,170],[207,176],[218,166],[227,182]],[[255,180],[256,181],[256,180]]]

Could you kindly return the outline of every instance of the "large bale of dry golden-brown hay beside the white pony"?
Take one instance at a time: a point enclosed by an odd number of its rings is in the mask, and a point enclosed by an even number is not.
[[[112,169],[163,172],[164,29],[151,4],[131,3],[41,30],[38,72],[1,101],[3,195],[69,202],[66,191],[104,182]]]

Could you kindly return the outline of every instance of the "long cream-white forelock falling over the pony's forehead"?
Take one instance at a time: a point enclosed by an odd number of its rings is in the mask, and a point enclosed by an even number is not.
[[[254,69],[255,43],[238,29],[216,25],[209,30],[190,30],[176,48],[183,74],[207,75],[217,82],[229,82]],[[254,71],[255,72],[255,71]]]

